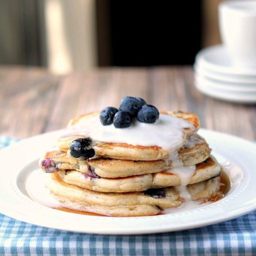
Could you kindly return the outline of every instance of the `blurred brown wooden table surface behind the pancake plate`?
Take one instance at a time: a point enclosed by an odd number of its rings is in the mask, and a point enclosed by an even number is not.
[[[0,134],[17,138],[61,129],[70,118],[119,106],[125,95],[162,110],[195,112],[201,126],[256,139],[256,105],[199,93],[191,67],[106,68],[56,76],[35,67],[0,67]]]

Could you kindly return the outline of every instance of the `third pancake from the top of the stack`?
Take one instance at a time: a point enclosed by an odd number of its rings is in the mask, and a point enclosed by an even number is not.
[[[186,170],[181,170],[181,172]],[[214,159],[209,157],[203,163],[196,165],[196,171],[188,184],[198,183],[211,179],[221,172],[221,167]],[[164,188],[170,186],[181,186],[181,177],[172,173],[172,170],[154,173],[135,175],[126,178],[100,178],[94,173],[91,175],[78,171],[59,171],[60,179],[77,187],[91,189],[100,192],[123,193],[131,191],[145,191],[150,188]]]

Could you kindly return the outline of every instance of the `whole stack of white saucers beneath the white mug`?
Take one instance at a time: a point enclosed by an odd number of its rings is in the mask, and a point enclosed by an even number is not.
[[[202,93],[233,102],[256,102],[256,69],[233,66],[223,45],[199,51],[194,69],[195,85]]]

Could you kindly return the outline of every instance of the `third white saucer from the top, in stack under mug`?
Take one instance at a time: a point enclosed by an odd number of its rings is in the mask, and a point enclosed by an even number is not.
[[[217,79],[212,79],[202,75],[201,73],[195,72],[196,81],[200,82],[206,87],[212,87],[218,90],[227,91],[227,92],[239,92],[241,94],[255,94],[256,93],[256,84],[242,84],[242,83],[227,83],[222,82]]]

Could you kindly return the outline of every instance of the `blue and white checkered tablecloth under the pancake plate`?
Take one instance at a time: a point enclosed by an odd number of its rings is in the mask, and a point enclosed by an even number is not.
[[[0,148],[18,141],[0,136]],[[0,214],[0,255],[256,255],[256,211],[203,228],[153,235],[91,235]]]

